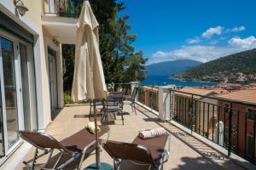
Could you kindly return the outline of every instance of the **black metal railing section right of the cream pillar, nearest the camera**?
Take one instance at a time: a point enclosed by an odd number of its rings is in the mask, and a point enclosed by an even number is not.
[[[231,153],[256,163],[256,105],[170,89],[170,117]]]

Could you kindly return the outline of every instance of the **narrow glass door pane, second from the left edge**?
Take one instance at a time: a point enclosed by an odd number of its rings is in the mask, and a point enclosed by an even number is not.
[[[27,65],[26,45],[20,43],[20,69],[22,82],[22,97],[23,97],[23,113],[24,125],[26,130],[31,129],[31,112],[30,112],[30,93],[29,93],[29,78]]]

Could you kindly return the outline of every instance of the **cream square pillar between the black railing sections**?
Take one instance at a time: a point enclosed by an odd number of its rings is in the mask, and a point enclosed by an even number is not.
[[[171,93],[170,87],[159,87],[158,91],[159,119],[166,121],[171,119]]]

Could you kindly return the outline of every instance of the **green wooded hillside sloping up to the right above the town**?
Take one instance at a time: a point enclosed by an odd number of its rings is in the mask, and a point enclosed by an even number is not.
[[[184,80],[211,82],[224,82],[228,79],[227,81],[229,82],[236,82],[237,73],[242,73],[243,75],[256,74],[256,48],[214,59],[203,65],[183,71],[183,73],[177,74],[175,77]]]

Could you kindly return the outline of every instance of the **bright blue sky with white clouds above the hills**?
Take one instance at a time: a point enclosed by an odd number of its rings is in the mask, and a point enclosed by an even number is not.
[[[256,48],[256,0],[117,0],[148,65],[207,62]]]

